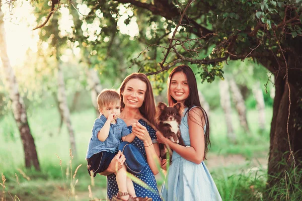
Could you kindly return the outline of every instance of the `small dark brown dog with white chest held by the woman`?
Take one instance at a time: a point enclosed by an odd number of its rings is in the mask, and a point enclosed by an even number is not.
[[[158,104],[157,123],[159,131],[161,131],[166,138],[169,138],[172,142],[185,146],[179,129],[182,108],[181,103],[176,103],[173,107],[167,107],[165,103],[160,102]],[[160,151],[161,158],[166,159],[166,153],[168,151],[162,144],[160,144]]]

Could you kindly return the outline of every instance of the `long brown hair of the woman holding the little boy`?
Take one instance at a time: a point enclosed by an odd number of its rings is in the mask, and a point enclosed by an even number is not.
[[[128,75],[122,82],[121,87],[119,89],[120,97],[121,97],[121,111],[123,111],[125,108],[122,92],[124,91],[125,86],[130,79],[139,79],[139,80],[143,81],[144,83],[146,83],[147,89],[145,92],[144,101],[142,103],[142,106],[139,108],[139,112],[150,123],[156,125],[156,122],[155,122],[156,107],[155,107],[155,102],[154,102],[152,86],[151,86],[149,79],[142,73],[132,73],[132,74]]]

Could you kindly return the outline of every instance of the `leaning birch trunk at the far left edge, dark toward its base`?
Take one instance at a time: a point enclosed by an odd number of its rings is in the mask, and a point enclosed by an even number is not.
[[[10,99],[12,101],[14,118],[22,139],[25,155],[25,167],[29,168],[33,165],[36,170],[40,170],[34,138],[31,134],[27,121],[26,108],[23,102],[23,98],[20,96],[19,86],[15,77],[15,73],[7,54],[6,32],[4,29],[3,21],[4,14],[1,10],[1,7],[2,3],[0,1],[0,57],[4,68],[4,77],[6,79],[6,83],[9,88]]]

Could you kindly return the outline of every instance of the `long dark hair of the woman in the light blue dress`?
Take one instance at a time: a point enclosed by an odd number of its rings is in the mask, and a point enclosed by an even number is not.
[[[204,120],[206,122],[206,129],[205,129],[205,133],[204,133],[204,148],[205,148],[204,159],[206,159],[206,154],[211,146],[209,120],[208,120],[206,112],[200,105],[196,77],[194,75],[193,70],[187,65],[180,65],[180,66],[175,67],[169,75],[168,83],[167,83],[168,84],[167,97],[168,97],[169,106],[172,107],[175,103],[177,103],[177,101],[170,94],[171,78],[174,75],[174,73],[176,73],[176,72],[183,72],[186,75],[189,89],[190,89],[189,96],[184,102],[185,107],[188,108],[185,115],[188,113],[188,111],[190,111],[190,109],[192,107],[197,106],[202,111],[203,116],[201,118],[204,118]],[[189,115],[189,117],[191,120],[193,120],[192,115]],[[195,121],[198,125],[200,125],[200,122],[198,122],[196,119],[194,119],[193,121]],[[200,126],[203,127],[202,125],[200,125]]]

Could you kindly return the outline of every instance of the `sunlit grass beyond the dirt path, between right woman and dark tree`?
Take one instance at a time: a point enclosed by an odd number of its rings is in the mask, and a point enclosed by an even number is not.
[[[237,138],[237,143],[230,143],[226,135],[226,125],[223,112],[220,110],[210,113],[210,153],[221,155],[242,154],[247,158],[268,153],[269,150],[269,132],[272,118],[272,109],[265,111],[266,128],[260,131],[258,127],[257,111],[251,110],[247,113],[250,134],[247,134],[240,126],[237,113],[232,114],[232,123]]]

